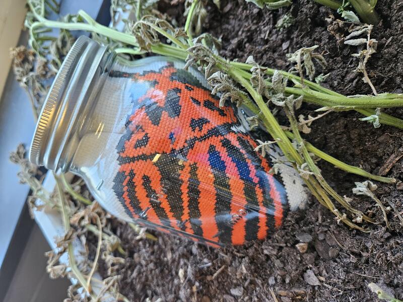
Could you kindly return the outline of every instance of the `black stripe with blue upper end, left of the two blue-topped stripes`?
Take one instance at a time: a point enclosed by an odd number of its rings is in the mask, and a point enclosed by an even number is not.
[[[225,162],[214,145],[209,147],[209,162],[214,175],[214,188],[216,190],[215,218],[219,233],[219,241],[232,243],[231,199],[229,178],[225,173]]]

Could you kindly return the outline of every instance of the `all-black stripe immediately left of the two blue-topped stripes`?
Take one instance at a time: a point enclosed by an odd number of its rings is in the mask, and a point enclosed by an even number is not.
[[[200,209],[199,196],[200,190],[198,189],[200,181],[197,177],[197,164],[190,165],[190,177],[187,184],[187,197],[189,198],[189,217],[194,235],[203,237],[203,229],[201,229],[201,220],[199,219]]]

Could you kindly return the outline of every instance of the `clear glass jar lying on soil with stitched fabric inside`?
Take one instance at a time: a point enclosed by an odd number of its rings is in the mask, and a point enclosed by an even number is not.
[[[162,56],[127,61],[80,37],[30,160],[81,176],[123,220],[211,245],[263,239],[306,200],[302,181],[274,147],[271,159],[255,152],[242,110],[220,108],[203,74],[183,67]]]

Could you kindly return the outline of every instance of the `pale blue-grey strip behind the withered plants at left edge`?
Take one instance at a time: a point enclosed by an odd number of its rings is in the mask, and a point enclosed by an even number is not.
[[[76,14],[83,9],[95,19],[101,4],[102,0],[61,1],[60,15]],[[22,35],[19,44],[26,41]],[[28,186],[19,184],[19,167],[10,163],[9,155],[20,142],[29,147],[34,129],[28,97],[10,72],[0,100],[0,267],[29,192]]]

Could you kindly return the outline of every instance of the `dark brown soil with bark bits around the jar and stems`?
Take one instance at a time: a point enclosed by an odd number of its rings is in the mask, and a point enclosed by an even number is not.
[[[335,21],[340,17],[334,11],[312,1],[293,2],[290,8],[270,11],[244,0],[222,0],[221,12],[209,3],[205,30],[221,38],[223,56],[244,61],[253,55],[261,65],[283,70],[291,67],[287,53],[319,45],[328,62],[325,71],[330,72],[324,86],[346,95],[371,94],[355,71],[358,63],[351,54],[356,47],[343,44],[349,24]],[[373,30],[379,45],[368,73],[378,92],[401,93],[403,2],[379,1],[377,11],[383,21]],[[179,24],[182,12],[183,4],[168,11]],[[287,12],[295,22],[280,31],[276,23]],[[312,109],[305,106],[301,113]],[[400,109],[389,113],[403,118]],[[375,129],[359,118],[354,112],[328,114],[312,124],[306,139],[335,158],[378,173],[403,145],[403,131],[384,125]],[[118,269],[120,292],[132,301],[378,301],[367,286],[374,282],[403,299],[403,226],[396,211],[388,211],[390,231],[373,201],[352,194],[354,182],[365,179],[323,161],[318,165],[334,189],[377,219],[367,225],[369,233],[338,223],[314,199],[307,210],[290,213],[271,238],[235,248],[213,249],[153,231],[148,232],[158,238],[156,242],[138,239],[126,224],[112,220],[112,229],[128,251]],[[387,176],[403,179],[403,161],[397,161]],[[377,185],[376,195],[385,207],[392,205],[402,213],[403,185]]]

